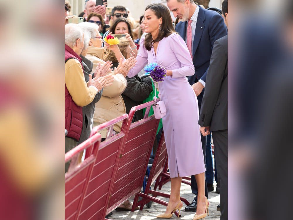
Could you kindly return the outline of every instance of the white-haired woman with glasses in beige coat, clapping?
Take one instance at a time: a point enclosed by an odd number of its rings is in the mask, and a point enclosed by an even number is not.
[[[98,31],[99,26],[90,22],[80,23],[84,31],[88,31],[91,35],[89,40],[89,49],[85,58],[93,62],[92,73],[95,72],[95,69],[99,69],[101,66],[105,65],[105,61],[98,58],[98,55],[94,53],[93,50],[101,48],[102,37]],[[103,49],[103,48],[102,48]],[[91,52],[90,52],[91,50]],[[84,53],[83,53],[84,55]],[[125,79],[129,70],[135,65],[136,60],[131,57],[125,62],[121,63],[115,71],[108,70],[107,75],[112,75],[114,77],[113,84],[103,89],[102,97],[100,101],[96,103],[96,109],[93,117],[93,126],[97,126],[111,119],[115,119],[118,116],[126,113],[125,104],[121,94],[124,92],[127,81]],[[112,66],[112,62],[107,61]],[[117,123],[112,133],[118,133],[121,130],[122,122]],[[102,138],[106,137],[107,130],[101,131]]]

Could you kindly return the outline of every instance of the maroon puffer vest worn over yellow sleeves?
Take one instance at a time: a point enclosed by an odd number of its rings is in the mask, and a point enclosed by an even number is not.
[[[81,57],[65,44],[65,62],[71,58],[79,60],[81,65]],[[67,137],[79,141],[82,130],[82,120],[82,107],[76,105],[72,100],[65,84],[65,129],[68,131]]]

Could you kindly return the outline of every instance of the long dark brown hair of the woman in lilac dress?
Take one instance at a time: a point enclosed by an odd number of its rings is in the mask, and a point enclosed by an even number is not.
[[[153,37],[151,36],[151,33],[147,33],[144,40],[144,46],[147,50],[151,50],[151,47],[154,43],[159,42],[163,38],[168,37],[172,33],[176,33],[175,29],[172,24],[172,18],[170,15],[170,11],[167,8],[167,6],[159,3],[159,4],[150,4],[146,7],[146,11],[148,9],[151,9],[154,11],[157,18],[162,18],[162,24],[161,24],[161,31],[159,31],[158,37],[153,40]]]

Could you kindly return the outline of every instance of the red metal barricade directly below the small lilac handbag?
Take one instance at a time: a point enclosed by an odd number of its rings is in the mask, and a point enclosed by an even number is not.
[[[151,149],[154,144],[159,119],[147,117],[154,101],[150,101],[130,110],[125,146],[119,158],[117,175],[111,193],[107,214],[122,202],[140,192],[145,177]],[[147,108],[144,119],[132,122],[134,113]]]

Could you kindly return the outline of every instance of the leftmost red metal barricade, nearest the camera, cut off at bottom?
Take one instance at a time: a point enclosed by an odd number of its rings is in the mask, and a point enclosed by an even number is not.
[[[88,185],[93,163],[98,153],[101,135],[96,134],[65,154],[65,163],[71,160],[68,172],[65,174],[65,219],[75,220],[78,217],[84,192]],[[93,144],[96,146],[93,148]],[[91,154],[79,165],[75,165],[80,153],[91,148]]]

